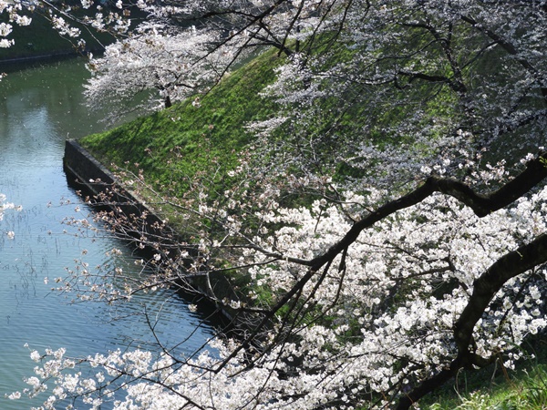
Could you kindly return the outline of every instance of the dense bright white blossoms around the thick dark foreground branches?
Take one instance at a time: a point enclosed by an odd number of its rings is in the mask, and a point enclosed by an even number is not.
[[[369,192],[373,198],[385,195]],[[370,200],[346,195],[341,206],[317,200],[296,209],[278,205],[260,216],[280,228],[253,238],[254,246],[240,256],[257,287],[283,295],[308,272],[294,261],[313,259],[346,234],[356,204]],[[449,364],[457,354],[454,325],[474,282],[502,255],[547,231],[546,203],[543,188],[479,218],[458,200],[432,195],[378,221],[326,274],[316,272],[297,300],[301,311],[284,343],[274,343],[286,331],[287,317],[278,313],[263,335],[268,348],[253,358],[236,340],[217,339],[192,359],[139,350],[90,356],[80,360],[95,370],[83,377],[64,350],[33,352],[41,364],[27,380],[26,393],[46,390],[53,379],[45,408],[70,395],[86,397],[91,408],[113,401],[116,409],[353,408],[365,405],[359,398],[365,396],[384,397],[377,402],[382,407],[396,398],[394,389],[412,388]],[[233,226],[230,231],[242,233]],[[475,327],[476,354],[511,352],[505,363],[511,366],[521,354],[512,347],[547,327],[546,289],[544,269],[505,283]],[[125,395],[113,398],[119,388]]]

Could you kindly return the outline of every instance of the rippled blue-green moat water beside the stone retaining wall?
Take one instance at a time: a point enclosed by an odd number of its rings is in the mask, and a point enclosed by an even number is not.
[[[52,280],[73,268],[83,250],[89,266],[108,261],[105,252],[113,248],[124,251],[126,272],[133,266],[124,243],[108,236],[77,238],[60,223],[75,214],[75,206],[61,202],[77,201],[62,169],[65,139],[104,127],[99,114],[83,105],[87,75],[81,61],[67,60],[9,73],[0,82],[0,192],[24,208],[0,221],[0,409],[30,406],[4,398],[25,388],[23,378],[33,373],[25,343],[38,350],[65,346],[67,354],[82,356],[149,346],[150,329],[140,314],[145,310],[152,315],[161,310],[157,333],[166,343],[183,340],[201,321],[176,295],[160,303],[170,295],[165,292],[136,298],[119,310],[70,304],[50,292]],[[15,240],[8,240],[6,231],[15,231]],[[202,327],[181,353],[193,352],[209,334],[210,328]]]

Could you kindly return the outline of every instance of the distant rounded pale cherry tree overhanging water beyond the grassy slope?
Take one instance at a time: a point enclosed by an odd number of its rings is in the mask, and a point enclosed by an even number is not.
[[[198,32],[195,27],[164,33],[162,28],[141,25],[88,63],[93,74],[86,87],[88,105],[100,108],[108,100],[113,110],[107,120],[114,122],[130,110],[169,108],[218,76],[215,56],[206,48],[215,33]],[[143,101],[135,104],[139,94]]]

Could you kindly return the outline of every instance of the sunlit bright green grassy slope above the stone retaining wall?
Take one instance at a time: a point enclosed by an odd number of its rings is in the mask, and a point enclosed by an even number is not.
[[[80,142],[106,164],[142,169],[157,187],[173,173],[191,176],[212,162],[230,169],[250,141],[244,124],[274,111],[274,103],[258,93],[274,81],[280,62],[274,52],[264,53],[201,96],[199,108],[191,98]]]

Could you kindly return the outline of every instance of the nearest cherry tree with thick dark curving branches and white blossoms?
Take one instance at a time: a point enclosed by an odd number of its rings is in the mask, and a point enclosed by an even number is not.
[[[429,177],[375,210],[366,205],[384,192],[347,192],[342,204],[317,200],[298,209],[269,199],[272,208],[257,216],[262,225],[252,239],[227,210],[225,241],[202,242],[187,272],[212,281],[228,260],[227,249],[237,248],[232,263],[248,270],[249,297],[216,302],[248,326],[245,333],[216,339],[209,347],[215,350],[193,357],[166,348],[159,357],[117,351],[78,359],[92,366],[86,376],[74,374],[80,362],[65,358],[64,350],[33,352],[42,364],[28,379],[29,392],[55,379],[52,406],[72,395],[99,405],[123,388],[127,396],[116,408],[376,408],[397,402],[408,408],[462,368],[498,360],[511,367],[521,354],[511,347],[547,324],[547,191],[523,194],[547,176],[544,161],[544,154],[530,159],[514,179],[486,194],[457,179]],[[252,208],[242,202],[232,209],[240,207]],[[200,211],[204,219],[212,212],[219,218],[214,207]],[[270,225],[281,228],[260,233]],[[239,241],[231,244],[229,237]],[[181,259],[163,251],[149,262],[162,269],[146,282],[128,280],[120,290],[103,272],[98,288],[96,273],[86,272],[95,287],[87,288],[75,272],[59,279],[59,290],[115,302],[181,283],[175,269],[191,250]],[[208,292],[197,282],[182,283]],[[273,292],[272,302],[257,293],[264,287]],[[209,299],[218,293],[214,288]]]

